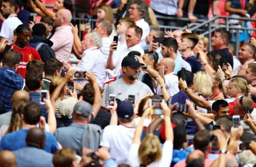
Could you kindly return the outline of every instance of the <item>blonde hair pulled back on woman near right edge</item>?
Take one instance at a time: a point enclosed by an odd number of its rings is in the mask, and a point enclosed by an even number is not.
[[[232,78],[230,80],[232,83],[233,88],[240,89],[242,93],[246,94],[247,97],[251,98],[250,88],[247,85],[247,81],[243,78]]]

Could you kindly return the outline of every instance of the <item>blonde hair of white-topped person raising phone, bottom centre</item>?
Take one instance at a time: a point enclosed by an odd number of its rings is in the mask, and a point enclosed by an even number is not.
[[[143,165],[150,165],[162,158],[160,140],[153,134],[148,134],[139,146],[139,161]]]

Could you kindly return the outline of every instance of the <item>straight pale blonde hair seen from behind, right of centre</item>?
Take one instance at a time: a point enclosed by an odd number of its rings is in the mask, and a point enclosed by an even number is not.
[[[194,90],[202,96],[209,97],[212,94],[213,82],[209,73],[199,71],[194,75]]]

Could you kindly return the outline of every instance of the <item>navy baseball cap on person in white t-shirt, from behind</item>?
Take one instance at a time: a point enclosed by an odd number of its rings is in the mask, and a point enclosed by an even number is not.
[[[133,105],[130,101],[120,101],[117,103],[117,116],[120,118],[130,118],[133,115]]]

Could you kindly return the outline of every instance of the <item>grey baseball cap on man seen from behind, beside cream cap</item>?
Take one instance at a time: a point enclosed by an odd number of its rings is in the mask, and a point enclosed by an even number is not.
[[[73,111],[78,116],[88,117],[91,114],[91,111],[93,111],[93,108],[90,103],[86,101],[80,101],[76,103]],[[76,111],[80,111],[82,114],[77,113]]]

